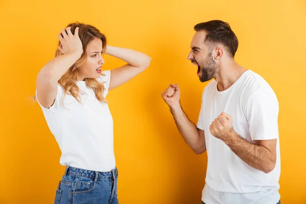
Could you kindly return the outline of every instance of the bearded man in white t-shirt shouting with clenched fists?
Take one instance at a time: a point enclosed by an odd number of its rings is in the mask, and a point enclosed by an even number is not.
[[[235,62],[238,39],[228,23],[202,22],[194,30],[188,60],[201,82],[214,78],[203,90],[197,125],[182,110],[177,84],[162,97],[195,154],[207,151],[202,203],[280,203],[276,95],[259,74]]]

